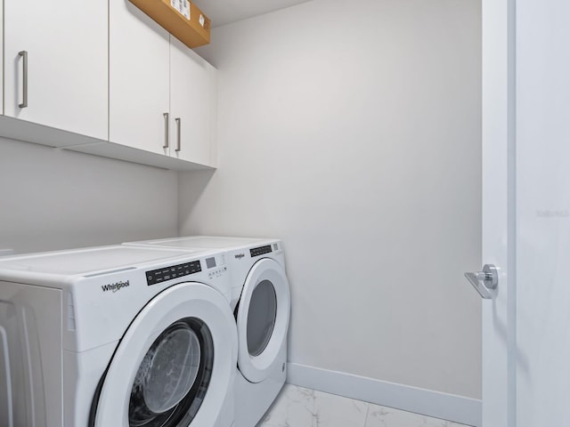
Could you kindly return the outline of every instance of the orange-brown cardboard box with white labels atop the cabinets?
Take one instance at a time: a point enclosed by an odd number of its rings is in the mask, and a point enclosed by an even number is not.
[[[129,0],[188,47],[210,43],[210,20],[188,0]]]

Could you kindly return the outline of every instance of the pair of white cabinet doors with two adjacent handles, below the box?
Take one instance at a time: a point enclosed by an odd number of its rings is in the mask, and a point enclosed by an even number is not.
[[[110,3],[109,48],[109,141],[213,166],[216,68],[127,0]]]

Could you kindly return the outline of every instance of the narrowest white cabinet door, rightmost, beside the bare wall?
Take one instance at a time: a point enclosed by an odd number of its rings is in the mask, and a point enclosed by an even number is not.
[[[171,156],[214,165],[216,68],[170,36],[170,112],[174,120]],[[176,119],[180,119],[180,147]]]

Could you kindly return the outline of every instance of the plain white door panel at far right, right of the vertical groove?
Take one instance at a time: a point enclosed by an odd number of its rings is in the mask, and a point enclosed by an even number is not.
[[[517,0],[517,427],[570,425],[569,23]]]

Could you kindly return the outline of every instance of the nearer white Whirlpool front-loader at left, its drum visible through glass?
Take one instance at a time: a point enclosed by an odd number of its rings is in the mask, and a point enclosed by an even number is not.
[[[0,425],[232,426],[230,294],[208,251],[0,259]]]

